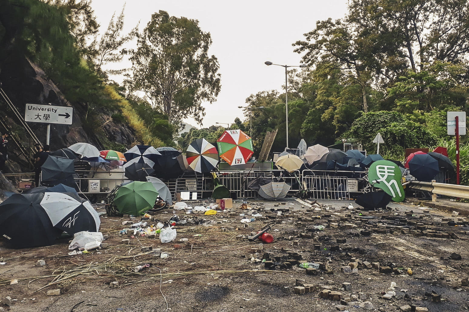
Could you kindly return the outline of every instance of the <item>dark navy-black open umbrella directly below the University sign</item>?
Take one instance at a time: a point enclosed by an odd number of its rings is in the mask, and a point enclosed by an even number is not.
[[[44,165],[41,166],[41,171],[41,183],[45,185],[53,186],[63,183],[71,186],[75,184],[73,175],[76,173],[73,160],[49,155]]]

